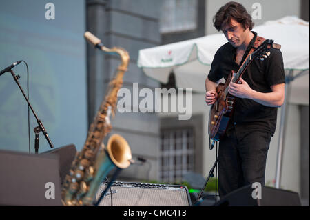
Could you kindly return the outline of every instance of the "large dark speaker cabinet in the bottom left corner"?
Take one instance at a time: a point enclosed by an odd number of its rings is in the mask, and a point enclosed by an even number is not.
[[[61,206],[59,159],[0,150],[0,206]]]

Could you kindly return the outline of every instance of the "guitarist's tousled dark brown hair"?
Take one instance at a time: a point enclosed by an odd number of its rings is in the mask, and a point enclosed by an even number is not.
[[[224,23],[231,23],[231,18],[242,24],[243,28],[252,30],[254,23],[251,15],[247,12],[244,6],[235,1],[229,1],[225,6],[220,7],[213,18],[213,24],[216,30],[220,31]]]

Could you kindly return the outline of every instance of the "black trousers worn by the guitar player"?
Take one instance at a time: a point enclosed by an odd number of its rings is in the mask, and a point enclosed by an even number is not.
[[[218,188],[220,197],[242,186],[265,184],[265,168],[271,134],[234,126],[220,140]]]

